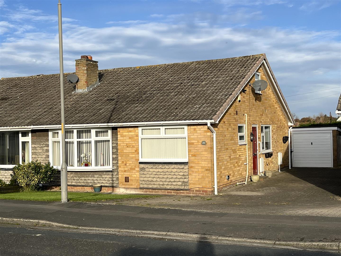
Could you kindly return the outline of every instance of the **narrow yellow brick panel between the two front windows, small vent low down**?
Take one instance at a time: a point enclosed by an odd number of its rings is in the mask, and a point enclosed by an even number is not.
[[[118,137],[118,180],[121,188],[139,188],[138,127],[120,127]],[[129,182],[124,182],[124,177]]]

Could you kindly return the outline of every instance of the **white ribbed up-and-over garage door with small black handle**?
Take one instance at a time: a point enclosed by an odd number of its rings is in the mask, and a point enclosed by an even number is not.
[[[331,132],[294,132],[294,167],[332,167]]]

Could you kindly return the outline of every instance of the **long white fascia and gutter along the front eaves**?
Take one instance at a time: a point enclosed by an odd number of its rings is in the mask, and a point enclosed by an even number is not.
[[[151,126],[151,125],[180,125],[180,124],[205,124],[214,123],[214,120],[183,120],[165,122],[139,122],[139,123],[108,123],[108,124],[73,124],[65,125],[65,128],[96,128],[96,127],[120,127],[120,126]],[[0,127],[0,131],[16,131],[31,129],[60,129],[61,125],[38,125],[38,126],[16,126]]]

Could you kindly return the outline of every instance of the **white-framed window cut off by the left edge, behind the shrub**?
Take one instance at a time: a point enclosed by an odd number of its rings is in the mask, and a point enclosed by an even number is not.
[[[30,130],[0,131],[0,167],[12,168],[31,160]]]

